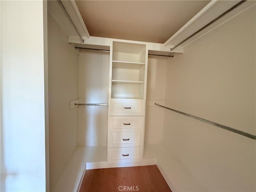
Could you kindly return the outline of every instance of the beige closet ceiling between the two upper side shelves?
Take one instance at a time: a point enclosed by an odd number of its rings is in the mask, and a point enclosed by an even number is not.
[[[90,36],[164,43],[210,1],[76,0]]]

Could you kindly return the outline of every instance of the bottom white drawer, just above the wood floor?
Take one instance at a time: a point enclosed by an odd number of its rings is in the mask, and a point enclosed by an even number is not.
[[[142,147],[109,148],[108,162],[138,162],[142,161]]]

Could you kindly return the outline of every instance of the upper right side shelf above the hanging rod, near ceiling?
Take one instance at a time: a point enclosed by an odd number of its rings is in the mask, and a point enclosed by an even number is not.
[[[214,20],[220,14],[224,13],[226,10],[237,4],[239,1],[231,0],[231,1],[211,1],[207,4],[198,14],[196,14],[192,19],[190,19],[180,30],[178,30],[171,38],[169,38],[164,46],[176,46],[186,38],[188,38],[191,34],[208,24],[210,21]],[[222,24],[228,22],[232,18],[238,16],[239,14],[245,12],[246,10],[255,6],[256,1],[246,1],[183,44],[179,47],[185,47],[191,42],[194,42],[198,38],[208,34],[212,30],[218,28]]]

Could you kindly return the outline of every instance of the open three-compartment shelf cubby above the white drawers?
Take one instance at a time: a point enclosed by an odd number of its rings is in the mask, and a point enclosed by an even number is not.
[[[143,99],[146,45],[113,42],[111,98]]]

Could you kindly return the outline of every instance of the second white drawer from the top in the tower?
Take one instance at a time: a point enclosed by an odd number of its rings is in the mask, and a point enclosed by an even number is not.
[[[144,116],[110,116],[109,132],[140,132],[144,130]]]

